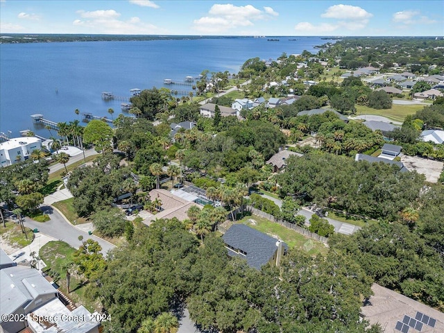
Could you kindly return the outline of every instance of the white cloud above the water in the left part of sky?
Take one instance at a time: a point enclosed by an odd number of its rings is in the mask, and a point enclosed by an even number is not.
[[[83,27],[97,33],[117,35],[155,35],[167,33],[164,29],[153,24],[142,22],[139,17],[130,17],[127,20],[119,19],[121,14],[115,10],[96,10],[85,12],[78,10],[80,19],[72,22],[73,26]]]

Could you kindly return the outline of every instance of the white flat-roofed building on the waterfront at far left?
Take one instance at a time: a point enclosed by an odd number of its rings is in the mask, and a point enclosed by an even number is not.
[[[0,165],[8,167],[27,160],[35,149],[42,149],[42,140],[37,137],[15,137],[0,144]]]

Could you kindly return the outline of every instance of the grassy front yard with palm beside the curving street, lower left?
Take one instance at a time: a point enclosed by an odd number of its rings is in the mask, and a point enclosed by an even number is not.
[[[46,271],[46,273],[53,277],[62,292],[71,298],[76,305],[84,305],[91,312],[100,310],[99,303],[87,297],[85,279],[77,275],[72,268],[75,250],[76,249],[71,248],[71,246],[64,241],[50,241],[42,246],[39,256],[49,268],[49,271]],[[67,292],[67,281],[65,278],[67,268],[69,267],[71,268],[70,293]]]

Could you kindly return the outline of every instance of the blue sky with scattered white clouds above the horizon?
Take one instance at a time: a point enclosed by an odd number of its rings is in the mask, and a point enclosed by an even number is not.
[[[444,35],[444,1],[0,0],[0,33]]]

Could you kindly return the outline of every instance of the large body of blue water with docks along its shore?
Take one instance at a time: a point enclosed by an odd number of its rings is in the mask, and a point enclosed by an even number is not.
[[[113,108],[117,117],[122,101],[103,101],[101,92],[129,97],[132,88],[191,89],[163,82],[198,76],[205,69],[237,73],[249,58],[316,53],[314,46],[325,42],[320,37],[280,37],[279,42],[246,37],[0,44],[0,131],[15,137],[31,129],[49,137],[48,130],[34,126],[31,114],[59,122],[80,120],[76,109],[110,117]]]

